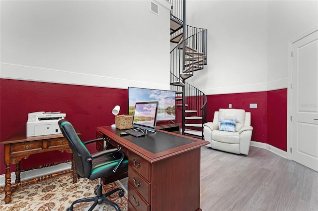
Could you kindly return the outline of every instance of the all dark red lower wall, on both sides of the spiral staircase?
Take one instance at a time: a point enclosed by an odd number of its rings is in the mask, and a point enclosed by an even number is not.
[[[95,127],[110,125],[115,121],[111,113],[114,106],[121,106],[119,114],[128,113],[127,89],[101,88],[56,83],[0,79],[0,140],[26,133],[27,115],[35,111],[61,111],[82,133],[81,139],[95,138]],[[286,151],[287,148],[287,89],[268,92],[209,95],[208,121],[214,111],[243,108],[251,112],[252,140],[268,143]],[[257,103],[258,108],[249,108]],[[182,113],[177,109],[177,120]],[[95,152],[95,145],[89,146]],[[21,169],[62,161],[71,158],[68,153],[48,152],[31,155],[21,160]],[[14,166],[11,166],[11,172]],[[3,145],[0,145],[0,174],[5,173]]]

